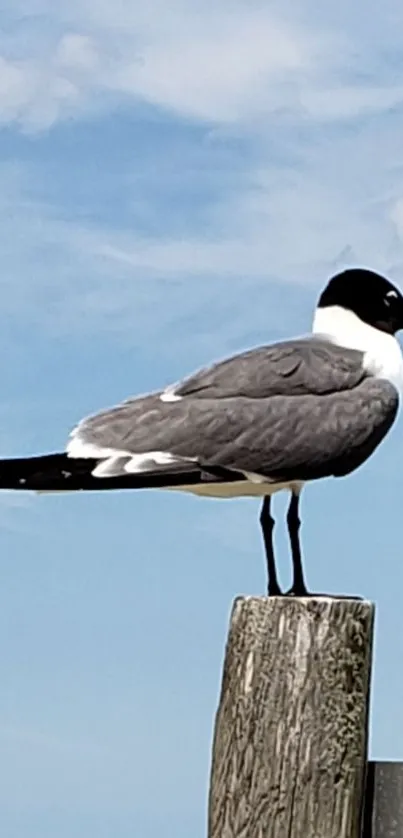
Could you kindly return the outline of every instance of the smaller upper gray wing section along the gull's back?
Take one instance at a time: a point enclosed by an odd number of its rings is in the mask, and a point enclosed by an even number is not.
[[[252,349],[206,367],[168,387],[164,398],[260,399],[349,390],[365,377],[362,361],[362,352],[309,336]]]

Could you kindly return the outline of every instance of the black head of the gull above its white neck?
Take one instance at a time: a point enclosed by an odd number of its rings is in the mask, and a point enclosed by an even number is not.
[[[364,323],[394,335],[403,329],[403,296],[388,279],[363,268],[336,274],[319,297],[318,308],[338,306]]]

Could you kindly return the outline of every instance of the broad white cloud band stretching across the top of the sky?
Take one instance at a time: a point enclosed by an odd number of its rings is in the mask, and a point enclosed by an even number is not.
[[[13,36],[0,39],[0,120],[24,130],[113,108],[122,97],[244,126],[284,112],[346,119],[402,98],[395,80],[346,84],[363,46],[359,33],[331,30],[314,16],[302,21],[290,9],[235,0],[221,7],[89,0],[61,8],[45,0],[37,17],[26,11],[9,0]],[[360,69],[366,66],[363,57]]]

